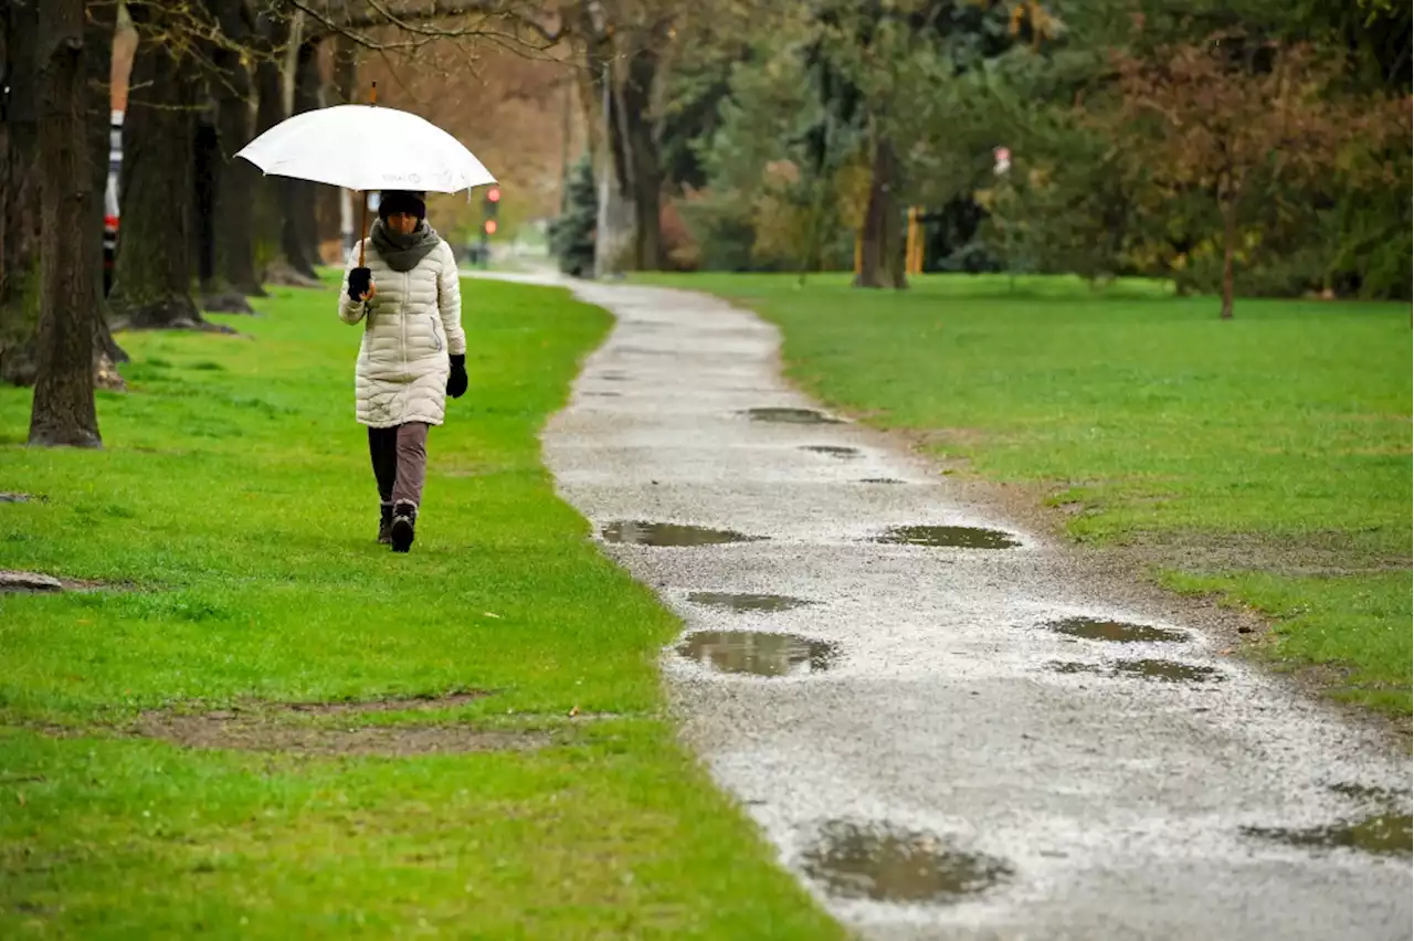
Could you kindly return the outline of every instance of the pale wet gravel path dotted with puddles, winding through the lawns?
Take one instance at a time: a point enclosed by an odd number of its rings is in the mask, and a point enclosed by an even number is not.
[[[844,923],[1414,937],[1414,763],[874,432],[795,411],[816,406],[755,316],[574,290],[618,326],[547,462],[683,616],[663,663],[693,746]]]

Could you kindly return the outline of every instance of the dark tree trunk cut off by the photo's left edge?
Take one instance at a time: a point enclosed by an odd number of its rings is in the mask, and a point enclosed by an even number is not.
[[[0,7],[0,379],[34,384],[40,321],[37,3]]]

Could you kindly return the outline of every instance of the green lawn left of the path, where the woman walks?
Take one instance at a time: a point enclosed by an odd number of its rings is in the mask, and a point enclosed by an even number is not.
[[[679,625],[540,465],[608,316],[467,287],[399,557],[359,332],[328,291],[263,309],[120,338],[100,452],[21,446],[0,390],[0,490],[48,497],[0,503],[0,568],[112,586],[0,595],[0,937],[840,937],[677,746]]]

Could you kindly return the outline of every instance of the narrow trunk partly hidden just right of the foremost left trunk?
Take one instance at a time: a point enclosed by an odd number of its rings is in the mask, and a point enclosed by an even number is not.
[[[107,298],[103,295],[103,194],[107,191],[110,126],[113,102],[109,81],[113,73],[113,38],[117,32],[117,4],[90,3],[85,6],[83,25],[83,131],[85,158],[92,171],[93,215],[85,236],[93,244],[85,246],[98,266],[93,280],[93,384],[117,391],[124,389],[115,363],[126,363],[127,353],[113,339],[107,326]]]

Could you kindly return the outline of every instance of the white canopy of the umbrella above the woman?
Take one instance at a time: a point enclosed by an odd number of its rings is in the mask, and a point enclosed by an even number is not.
[[[455,137],[417,114],[338,105],[296,114],[236,157],[273,177],[345,189],[458,192],[496,182]]]

